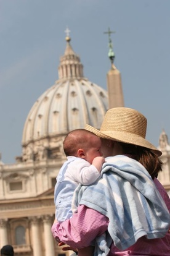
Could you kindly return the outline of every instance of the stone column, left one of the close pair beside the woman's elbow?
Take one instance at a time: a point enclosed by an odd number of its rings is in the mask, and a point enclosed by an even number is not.
[[[40,239],[40,230],[39,230],[39,218],[31,217],[31,233],[33,241],[33,255],[42,255],[41,252],[41,239]]]

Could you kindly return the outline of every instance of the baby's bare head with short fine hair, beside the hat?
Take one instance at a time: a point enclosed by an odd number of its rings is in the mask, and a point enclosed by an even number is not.
[[[72,130],[63,141],[66,156],[83,158],[89,163],[92,163],[96,156],[102,156],[100,148],[100,138],[85,129]]]

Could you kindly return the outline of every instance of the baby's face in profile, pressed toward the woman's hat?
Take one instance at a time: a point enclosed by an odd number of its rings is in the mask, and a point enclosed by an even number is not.
[[[89,142],[89,148],[86,150],[86,161],[92,163],[96,156],[102,156],[101,151],[102,142],[99,137],[92,136]]]

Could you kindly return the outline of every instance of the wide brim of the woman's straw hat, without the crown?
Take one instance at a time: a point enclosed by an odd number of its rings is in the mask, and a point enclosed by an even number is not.
[[[89,124],[86,124],[84,129],[89,130],[90,132],[93,132],[95,135],[97,135],[100,138],[108,139],[108,140],[116,140],[118,142],[124,142],[129,143],[132,145],[137,145],[144,148],[149,148],[151,150],[154,150],[156,155],[161,156],[162,152],[158,150],[155,146],[152,145],[152,143],[148,142],[146,139],[135,136],[134,134],[131,134],[130,132],[121,132],[121,131],[112,131],[112,130],[97,130],[92,126],[89,126]]]

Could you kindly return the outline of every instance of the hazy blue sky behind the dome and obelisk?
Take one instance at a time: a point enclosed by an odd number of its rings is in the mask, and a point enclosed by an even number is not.
[[[31,106],[58,79],[65,29],[84,76],[107,88],[108,27],[121,72],[125,106],[148,119],[156,147],[170,135],[169,0],[1,0],[0,151],[4,163],[22,153],[22,131]]]

